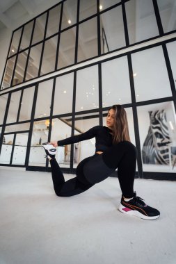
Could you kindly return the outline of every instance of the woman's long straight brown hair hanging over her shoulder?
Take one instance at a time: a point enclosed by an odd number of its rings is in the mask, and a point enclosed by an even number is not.
[[[109,110],[115,111],[115,122],[113,126],[113,144],[118,144],[121,141],[130,141],[129,128],[127,121],[127,113],[120,104],[111,106]]]

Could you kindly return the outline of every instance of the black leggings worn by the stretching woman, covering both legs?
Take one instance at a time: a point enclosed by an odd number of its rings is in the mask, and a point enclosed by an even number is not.
[[[68,181],[65,181],[56,159],[50,160],[50,163],[54,190],[58,196],[79,195],[95,183],[106,179],[117,168],[122,195],[126,198],[134,196],[136,147],[131,142],[120,142],[109,147],[103,154],[85,158],[77,166],[77,176]]]

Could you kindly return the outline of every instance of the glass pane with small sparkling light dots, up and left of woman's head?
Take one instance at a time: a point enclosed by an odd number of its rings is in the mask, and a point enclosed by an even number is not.
[[[76,112],[99,108],[98,67],[77,71]]]

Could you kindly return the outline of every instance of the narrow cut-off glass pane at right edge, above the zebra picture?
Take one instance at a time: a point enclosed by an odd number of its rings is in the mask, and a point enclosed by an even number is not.
[[[170,65],[173,72],[173,79],[175,80],[175,88],[176,88],[176,42],[170,42],[166,44],[168,49],[168,56],[170,60]]]

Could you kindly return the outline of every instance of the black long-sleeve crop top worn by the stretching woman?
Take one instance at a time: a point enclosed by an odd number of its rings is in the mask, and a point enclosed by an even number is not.
[[[111,133],[111,129],[106,126],[94,126],[92,129],[80,135],[73,135],[70,138],[65,138],[65,140],[58,140],[58,146],[70,145],[95,138],[95,152],[104,151],[113,145]]]

